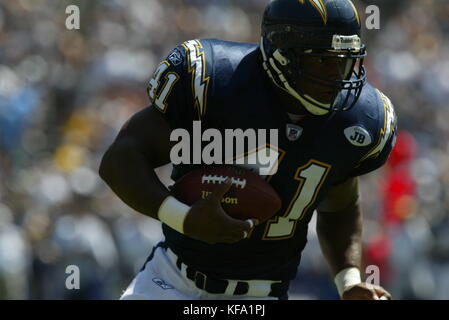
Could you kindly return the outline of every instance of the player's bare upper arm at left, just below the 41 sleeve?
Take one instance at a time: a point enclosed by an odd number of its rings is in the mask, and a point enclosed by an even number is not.
[[[153,168],[170,162],[171,128],[153,107],[134,114],[122,127],[113,145],[128,146],[145,156]]]

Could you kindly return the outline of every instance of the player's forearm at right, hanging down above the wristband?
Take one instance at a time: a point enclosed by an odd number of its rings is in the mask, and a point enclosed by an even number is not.
[[[317,233],[321,250],[333,276],[339,271],[356,267],[362,261],[362,211],[359,203],[344,212],[319,212]]]

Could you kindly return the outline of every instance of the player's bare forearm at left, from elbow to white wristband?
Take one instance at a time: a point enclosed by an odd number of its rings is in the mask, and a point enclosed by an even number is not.
[[[158,209],[169,191],[148,159],[132,145],[114,143],[103,156],[100,176],[128,206],[158,218]]]

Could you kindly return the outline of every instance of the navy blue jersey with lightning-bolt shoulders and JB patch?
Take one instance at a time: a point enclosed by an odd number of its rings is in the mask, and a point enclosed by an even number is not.
[[[192,121],[201,120],[203,130],[279,130],[278,170],[266,177],[282,199],[275,217],[232,245],[209,245],[163,225],[168,245],[187,265],[218,278],[293,279],[308,223],[329,188],[382,166],[396,135],[390,100],[370,84],[350,111],[293,122],[253,44],[187,41],[161,63],[148,93],[173,129],[191,131]],[[190,169],[177,165],[172,178]]]

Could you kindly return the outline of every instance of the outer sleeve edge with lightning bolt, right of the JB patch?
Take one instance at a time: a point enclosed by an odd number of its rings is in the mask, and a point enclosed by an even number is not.
[[[379,131],[377,143],[362,157],[359,164],[351,172],[351,177],[361,176],[377,170],[388,160],[391,151],[396,143],[397,118],[393,104],[382,92],[378,91],[383,112],[379,121]]]

